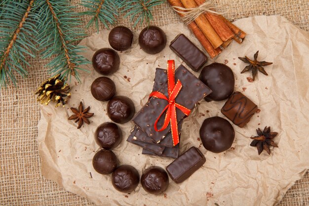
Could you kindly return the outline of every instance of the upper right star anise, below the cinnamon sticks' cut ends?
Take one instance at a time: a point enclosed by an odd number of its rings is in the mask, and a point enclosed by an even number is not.
[[[264,75],[268,76],[268,74],[266,73],[266,71],[264,70],[264,68],[262,66],[267,66],[267,65],[272,64],[272,62],[266,62],[266,61],[259,62],[257,60],[258,55],[259,55],[259,51],[257,51],[254,54],[254,56],[253,56],[254,60],[249,59],[247,56],[245,56],[245,57],[238,57],[238,59],[240,59],[241,61],[250,64],[250,65],[246,66],[241,71],[241,74],[244,73],[244,72],[247,72],[247,71],[249,71],[251,69],[252,70],[252,79],[253,79],[253,81],[255,80],[255,77],[256,77],[256,75],[258,73],[258,70],[260,72],[262,72]]]

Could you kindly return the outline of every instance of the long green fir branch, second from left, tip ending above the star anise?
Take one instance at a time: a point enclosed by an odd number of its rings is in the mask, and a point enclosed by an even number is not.
[[[46,66],[51,74],[61,74],[67,80],[74,76],[79,81],[80,65],[90,62],[78,54],[84,47],[75,45],[85,37],[78,14],[69,0],[40,0],[36,16],[39,23],[39,44],[43,59],[54,57]],[[88,72],[88,71],[87,71]]]

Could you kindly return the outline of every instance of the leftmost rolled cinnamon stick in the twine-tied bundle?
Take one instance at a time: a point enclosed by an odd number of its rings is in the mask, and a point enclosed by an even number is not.
[[[167,0],[169,2],[169,4],[171,6],[178,6],[178,7],[183,7],[184,5],[181,3],[180,0]],[[178,12],[177,12],[178,13]],[[181,13],[178,13],[180,16],[184,16]],[[196,25],[195,22],[191,22],[188,25],[189,29],[192,31],[192,33],[194,34],[194,36],[196,37],[196,39],[201,43],[201,45],[204,47],[204,49],[207,51],[207,53],[209,54],[209,56],[211,58],[214,58],[215,56],[217,56],[219,53],[221,53],[221,49],[218,48],[214,48],[211,43],[208,41],[208,39],[205,37],[205,35],[202,33],[202,31],[198,28],[198,26]]]

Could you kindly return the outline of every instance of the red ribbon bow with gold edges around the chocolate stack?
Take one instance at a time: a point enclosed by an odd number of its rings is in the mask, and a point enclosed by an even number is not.
[[[168,102],[168,105],[166,105],[166,107],[163,109],[159,117],[156,119],[154,123],[154,129],[155,131],[163,131],[164,129],[167,128],[168,124],[171,123],[173,145],[175,146],[179,143],[176,108],[178,108],[180,111],[182,111],[187,116],[190,115],[191,110],[175,102],[175,98],[180,92],[182,88],[182,84],[180,80],[178,80],[177,83],[175,84],[175,61],[174,60],[167,61],[167,88],[168,88],[168,98],[159,91],[154,91],[149,96],[154,97],[154,98],[159,98],[159,99],[165,99]],[[158,129],[157,123],[165,111],[166,111],[166,115],[164,119],[164,124],[160,129]]]

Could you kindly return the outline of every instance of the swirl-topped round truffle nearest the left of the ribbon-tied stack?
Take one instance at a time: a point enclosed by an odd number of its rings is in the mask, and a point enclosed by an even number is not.
[[[134,103],[125,96],[116,96],[107,104],[107,115],[115,123],[129,122],[135,113]]]

